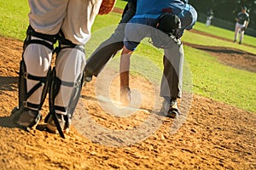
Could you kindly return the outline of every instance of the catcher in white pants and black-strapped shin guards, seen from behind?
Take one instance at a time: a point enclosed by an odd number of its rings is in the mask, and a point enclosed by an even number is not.
[[[19,107],[14,122],[27,130],[42,118],[49,92],[49,114],[44,122],[51,133],[68,132],[83,84],[84,45],[96,14],[108,14],[115,0],[28,0],[29,26],[20,61]],[[55,42],[59,42],[54,49]],[[50,63],[56,53],[54,68]]]

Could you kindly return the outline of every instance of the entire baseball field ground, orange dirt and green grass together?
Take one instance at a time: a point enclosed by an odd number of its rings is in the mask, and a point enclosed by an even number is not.
[[[48,100],[37,129],[28,133],[11,121],[28,12],[26,1],[0,1],[1,169],[256,169],[256,37],[234,43],[233,31],[200,22],[185,31],[183,113],[176,120],[156,109],[163,52],[148,40],[131,62],[138,109],[106,109],[111,100],[104,93],[113,101],[119,92],[117,54],[83,87],[71,132],[61,139],[44,130]],[[119,12],[96,17],[87,58],[111,35]]]

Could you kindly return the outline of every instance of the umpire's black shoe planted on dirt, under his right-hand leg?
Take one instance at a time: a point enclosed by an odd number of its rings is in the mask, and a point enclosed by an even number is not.
[[[177,98],[172,98],[170,101],[164,100],[161,112],[165,114],[166,117],[176,118],[180,115],[180,111],[177,108]]]

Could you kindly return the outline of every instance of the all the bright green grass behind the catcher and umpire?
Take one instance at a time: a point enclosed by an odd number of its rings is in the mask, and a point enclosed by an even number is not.
[[[118,1],[116,6],[123,8],[124,1]],[[22,7],[22,8],[20,8]],[[22,0],[0,1],[0,35],[5,37],[15,37],[23,40],[26,36],[28,24],[27,13],[28,4]],[[97,44],[111,35],[115,26],[119,23],[120,14],[108,14],[96,17],[92,28],[92,37],[86,45],[87,57],[92,53]],[[195,30],[205,31],[219,37],[233,39],[234,32],[227,31],[215,26],[206,27],[204,23],[197,22]],[[99,33],[104,32],[101,36]],[[238,48],[252,54],[256,54],[256,48],[247,47],[232,42],[226,42],[216,38],[206,37],[186,31],[183,42],[201,44],[206,46],[219,46]],[[255,46],[255,37],[244,37],[244,43]],[[216,57],[207,54],[196,48],[184,46],[185,59],[189,64],[193,77],[193,91],[207,98],[215,99],[238,108],[256,112],[256,73],[241,71],[230,66],[222,65]],[[136,54],[147,56],[155,65],[162,69],[162,52],[155,48],[148,48],[142,44],[137,48]],[[19,56],[20,57],[20,56]]]

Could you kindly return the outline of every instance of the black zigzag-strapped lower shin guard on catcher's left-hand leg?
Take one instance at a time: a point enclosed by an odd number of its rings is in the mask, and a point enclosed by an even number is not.
[[[19,108],[30,107],[35,110],[41,110],[42,105],[44,104],[44,99],[48,93],[49,88],[49,77],[50,77],[50,69],[46,75],[46,77],[35,77],[26,72],[26,64],[22,59],[20,61],[20,76],[19,76]],[[27,91],[26,81],[27,79],[38,81],[38,83]],[[44,86],[43,92],[41,94],[41,101],[38,105],[27,102],[27,99],[38,89]]]

